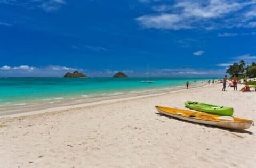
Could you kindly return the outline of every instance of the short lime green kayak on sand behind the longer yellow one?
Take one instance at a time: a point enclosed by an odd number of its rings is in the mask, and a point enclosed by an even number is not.
[[[232,107],[224,107],[224,106],[205,104],[200,102],[191,102],[191,101],[185,102],[185,106],[196,111],[201,111],[201,112],[216,114],[216,115],[232,116],[234,111]]]

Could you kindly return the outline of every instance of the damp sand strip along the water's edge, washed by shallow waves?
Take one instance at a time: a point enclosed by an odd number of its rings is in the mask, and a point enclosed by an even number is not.
[[[204,87],[206,85],[206,81],[198,81],[195,85],[190,85],[189,89]],[[45,112],[53,112],[59,110],[65,110],[69,108],[77,108],[83,106],[90,106],[90,105],[97,105],[102,103],[108,102],[117,102],[118,100],[126,100],[126,99],[133,99],[133,98],[140,98],[140,97],[150,97],[158,94],[167,94],[172,93],[175,91],[187,90],[186,86],[175,86],[170,88],[160,88],[160,89],[153,89],[148,91],[141,91],[140,93],[136,94],[123,94],[123,95],[114,95],[114,96],[106,96],[106,97],[98,97],[98,98],[76,98],[76,99],[56,99],[57,102],[49,104],[48,102],[37,102],[36,104],[27,104],[27,103],[19,103],[14,105],[5,105],[0,106],[0,119],[5,117],[12,117],[12,116],[23,116],[29,114],[38,114],[38,113],[45,113]],[[33,107],[34,106],[34,107]],[[9,111],[7,110],[9,109]],[[10,110],[11,109],[11,110]]]

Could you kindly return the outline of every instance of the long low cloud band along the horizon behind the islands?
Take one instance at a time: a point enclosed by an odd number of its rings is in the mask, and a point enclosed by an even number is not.
[[[145,69],[105,69],[105,70],[84,70],[70,68],[67,66],[49,65],[45,67],[34,67],[28,65],[21,66],[2,66],[0,67],[0,77],[63,77],[67,72],[79,71],[89,77],[113,77],[117,72],[123,72],[129,77],[146,77]],[[149,77],[216,77],[223,75],[225,70],[205,70],[205,69],[192,69],[192,68],[179,68],[179,69],[150,69]]]

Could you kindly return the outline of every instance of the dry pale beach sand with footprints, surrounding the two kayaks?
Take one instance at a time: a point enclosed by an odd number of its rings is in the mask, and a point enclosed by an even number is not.
[[[238,89],[243,85],[238,85]],[[214,128],[155,114],[186,100],[256,121],[256,93],[222,85],[0,119],[0,167],[256,167],[256,127]]]

